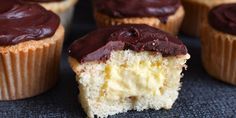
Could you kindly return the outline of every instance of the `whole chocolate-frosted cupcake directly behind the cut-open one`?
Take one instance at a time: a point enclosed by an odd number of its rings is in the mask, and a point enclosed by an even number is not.
[[[147,24],[176,35],[184,17],[180,0],[94,0],[99,27]]]

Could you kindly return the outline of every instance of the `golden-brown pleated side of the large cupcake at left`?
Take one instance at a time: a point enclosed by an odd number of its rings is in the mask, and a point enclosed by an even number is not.
[[[0,100],[32,97],[55,85],[62,43],[60,39],[28,50],[0,53]]]

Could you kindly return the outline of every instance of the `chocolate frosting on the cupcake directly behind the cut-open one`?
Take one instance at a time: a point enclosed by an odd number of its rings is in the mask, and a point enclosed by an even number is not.
[[[115,18],[158,17],[165,22],[180,6],[180,0],[96,0],[95,8]]]

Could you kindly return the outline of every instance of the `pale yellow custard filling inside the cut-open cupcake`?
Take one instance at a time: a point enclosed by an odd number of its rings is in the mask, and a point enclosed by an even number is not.
[[[132,63],[106,64],[105,82],[100,95],[110,100],[135,96],[161,95],[165,76],[161,68],[161,57],[155,61],[132,60]]]

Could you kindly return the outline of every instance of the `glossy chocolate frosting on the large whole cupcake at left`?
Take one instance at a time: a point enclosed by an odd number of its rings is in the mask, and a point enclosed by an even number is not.
[[[51,37],[59,23],[56,14],[40,5],[4,0],[0,3],[0,46]]]

